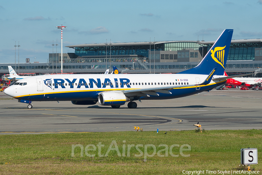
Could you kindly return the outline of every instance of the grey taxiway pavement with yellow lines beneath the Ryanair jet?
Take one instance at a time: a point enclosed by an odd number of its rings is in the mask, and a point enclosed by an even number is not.
[[[111,106],[74,105],[71,101],[35,101],[33,108],[0,92],[0,134],[262,129],[262,91],[211,90],[177,99],[137,101]]]

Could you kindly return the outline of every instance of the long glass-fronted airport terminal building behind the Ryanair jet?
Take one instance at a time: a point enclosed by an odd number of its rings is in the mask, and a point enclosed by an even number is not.
[[[129,43],[91,43],[66,46],[75,53],[63,53],[63,72],[104,73],[116,66],[126,73],[177,73],[201,62],[215,41],[151,41]],[[247,73],[262,67],[262,39],[231,41],[226,71]],[[8,74],[0,64],[0,73]],[[18,64],[16,64],[16,70]],[[20,73],[60,73],[61,53],[49,53],[46,63],[20,63]]]

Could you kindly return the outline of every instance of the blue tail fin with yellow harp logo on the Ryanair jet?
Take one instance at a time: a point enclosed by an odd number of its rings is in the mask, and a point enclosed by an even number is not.
[[[179,72],[178,74],[208,75],[215,67],[217,67],[215,75],[223,75],[232,35],[233,29],[225,29],[203,60],[196,67]]]

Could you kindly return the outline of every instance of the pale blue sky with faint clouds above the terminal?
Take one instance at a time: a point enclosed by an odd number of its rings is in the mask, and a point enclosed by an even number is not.
[[[47,62],[52,43],[63,46],[137,41],[215,41],[224,29],[233,39],[262,38],[262,0],[1,1],[0,63]],[[54,53],[56,47],[54,47]],[[74,49],[63,47],[63,53]],[[36,58],[36,59],[34,59]],[[18,48],[16,48],[18,62]]]

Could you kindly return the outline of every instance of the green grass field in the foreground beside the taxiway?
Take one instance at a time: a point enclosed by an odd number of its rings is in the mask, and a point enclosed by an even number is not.
[[[248,147],[258,149],[251,168],[261,174],[262,130],[164,132],[0,135],[0,174],[218,174],[242,168]]]

